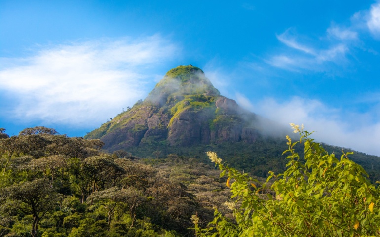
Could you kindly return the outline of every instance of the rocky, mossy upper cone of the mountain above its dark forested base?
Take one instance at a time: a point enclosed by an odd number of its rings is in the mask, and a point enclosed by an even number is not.
[[[221,96],[203,71],[178,66],[144,101],[86,135],[109,151],[144,144],[192,146],[226,141],[254,142],[257,116]]]

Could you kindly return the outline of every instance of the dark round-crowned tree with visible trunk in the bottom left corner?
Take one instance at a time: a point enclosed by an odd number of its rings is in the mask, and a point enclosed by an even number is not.
[[[38,234],[38,222],[49,211],[55,209],[58,195],[45,179],[14,184],[0,190],[0,196],[11,208],[32,215],[31,235]]]

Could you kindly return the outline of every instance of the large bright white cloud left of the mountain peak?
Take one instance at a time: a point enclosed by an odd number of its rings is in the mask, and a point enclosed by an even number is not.
[[[155,35],[102,39],[40,49],[27,58],[2,58],[0,90],[12,111],[1,116],[92,127],[146,95],[154,70],[179,48]],[[154,66],[153,66],[154,65]]]

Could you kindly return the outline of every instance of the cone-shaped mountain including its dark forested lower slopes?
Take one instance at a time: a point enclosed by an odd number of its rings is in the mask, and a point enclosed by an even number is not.
[[[101,139],[108,152],[124,150],[146,158],[177,154],[208,162],[205,152],[215,151],[234,167],[266,177],[269,170],[285,169],[286,134],[289,130],[222,96],[200,68],[189,65],[169,70],[144,101],[85,138]],[[338,158],[342,155],[340,147],[323,146]],[[301,155],[302,146],[296,151]],[[355,152],[350,158],[372,180],[380,179],[379,157]]]

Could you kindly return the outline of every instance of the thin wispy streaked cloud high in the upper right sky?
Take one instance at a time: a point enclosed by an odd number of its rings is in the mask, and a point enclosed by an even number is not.
[[[365,43],[361,35],[368,32],[374,39],[380,39],[380,1],[372,4],[368,10],[354,13],[347,26],[332,23],[326,29],[326,34],[317,39],[300,35],[292,27],[287,29],[276,35],[285,46],[282,52],[264,61],[289,71],[329,71],[331,66],[347,65],[356,47],[360,46],[363,50]]]

